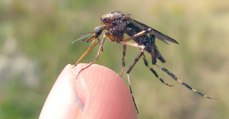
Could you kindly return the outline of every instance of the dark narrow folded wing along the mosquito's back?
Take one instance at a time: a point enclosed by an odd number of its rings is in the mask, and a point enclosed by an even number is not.
[[[139,28],[141,28],[142,30],[145,30],[145,29],[150,29],[150,32],[153,33],[155,35],[155,37],[157,37],[159,40],[167,43],[167,41],[170,41],[170,42],[173,42],[173,43],[176,43],[176,44],[179,44],[175,39],[161,33],[160,31],[154,29],[154,28],[151,28],[139,21],[136,21],[134,19],[131,19],[131,21],[135,24],[135,25],[138,25]]]

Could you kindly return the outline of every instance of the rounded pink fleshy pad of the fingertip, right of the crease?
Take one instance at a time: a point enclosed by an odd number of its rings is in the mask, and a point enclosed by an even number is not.
[[[128,87],[121,77],[104,66],[78,64],[73,72],[77,94],[83,104],[83,119],[135,119],[136,111]]]

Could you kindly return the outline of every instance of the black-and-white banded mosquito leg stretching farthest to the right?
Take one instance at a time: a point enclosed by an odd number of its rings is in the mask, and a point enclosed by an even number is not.
[[[189,84],[187,84],[187,83],[185,83],[185,82],[183,82],[183,81],[177,79],[177,77],[176,77],[173,73],[171,73],[167,68],[160,67],[159,65],[156,65],[156,66],[157,66],[159,69],[161,69],[163,72],[167,73],[173,80],[179,82],[180,84],[182,84],[183,86],[185,86],[185,87],[188,88],[189,90],[191,90],[191,91],[193,91],[193,92],[199,94],[199,95],[202,96],[202,97],[205,97],[205,98],[208,98],[208,99],[215,99],[215,98],[212,98],[212,97],[210,97],[210,96],[207,96],[207,95],[201,93],[200,91],[198,91],[198,90],[192,88]]]

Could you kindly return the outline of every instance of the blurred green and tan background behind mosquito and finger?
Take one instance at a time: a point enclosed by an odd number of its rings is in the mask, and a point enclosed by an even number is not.
[[[139,119],[229,118],[229,2],[225,0],[1,0],[0,119],[36,119],[66,64],[89,44],[71,42],[100,25],[100,16],[119,10],[175,38],[157,41],[167,59],[161,66],[201,92],[160,83],[140,62],[131,73]],[[121,45],[106,42],[97,63],[121,69]],[[127,49],[130,64],[138,49]],[[90,62],[96,49],[83,62]],[[150,58],[150,57],[148,57]],[[126,77],[124,77],[126,78]],[[64,98],[64,97],[63,97]]]

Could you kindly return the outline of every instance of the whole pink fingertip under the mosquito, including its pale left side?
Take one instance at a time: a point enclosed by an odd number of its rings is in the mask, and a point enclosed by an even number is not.
[[[120,76],[96,64],[78,75],[85,66],[87,64],[65,67],[46,100],[40,118],[54,115],[48,118],[136,119],[131,94]]]

